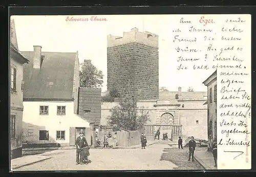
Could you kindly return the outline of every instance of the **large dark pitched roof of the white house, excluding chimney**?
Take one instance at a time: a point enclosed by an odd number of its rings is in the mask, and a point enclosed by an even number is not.
[[[30,60],[23,70],[24,100],[72,99],[76,53],[42,52],[40,69],[33,68],[33,51],[22,53]]]

